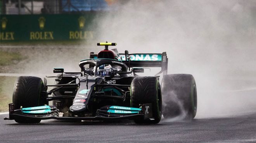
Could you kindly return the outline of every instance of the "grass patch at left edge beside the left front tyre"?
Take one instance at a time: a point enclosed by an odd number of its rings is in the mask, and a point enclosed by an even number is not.
[[[12,91],[17,77],[0,76],[0,112],[9,110],[12,103]]]

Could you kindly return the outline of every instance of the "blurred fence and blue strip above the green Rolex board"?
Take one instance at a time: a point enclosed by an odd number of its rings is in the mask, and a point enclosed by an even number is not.
[[[106,11],[126,0],[1,0],[1,14],[61,14]]]

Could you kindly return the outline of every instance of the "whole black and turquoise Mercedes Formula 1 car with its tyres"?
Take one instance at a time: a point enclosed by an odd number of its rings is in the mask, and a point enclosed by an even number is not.
[[[162,54],[118,54],[105,46],[90,59],[80,61],[81,72],[54,68],[55,84],[39,77],[20,76],[9,104],[9,118],[17,123],[39,123],[42,119],[105,121],[133,119],[156,124],[164,118],[185,115],[193,119],[197,92],[190,74],[167,74],[168,58]],[[144,69],[161,67],[155,76],[139,76]],[[163,74],[161,84],[160,76]],[[53,87],[47,91],[48,87]],[[162,89],[162,90],[161,90]],[[51,96],[52,95],[52,96]],[[163,98],[163,99],[162,99]],[[48,105],[52,101],[53,105]]]

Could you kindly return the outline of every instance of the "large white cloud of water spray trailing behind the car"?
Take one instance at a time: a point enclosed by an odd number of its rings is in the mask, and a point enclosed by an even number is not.
[[[195,77],[196,118],[255,111],[256,1],[131,0],[114,6],[119,10],[95,19],[96,41],[117,42],[119,52],[166,51],[168,74]]]

